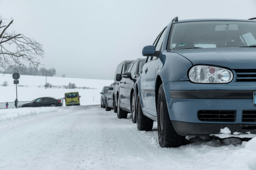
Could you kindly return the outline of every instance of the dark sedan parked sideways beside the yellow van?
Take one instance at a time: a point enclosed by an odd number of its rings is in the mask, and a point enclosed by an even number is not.
[[[32,100],[30,103],[20,105],[19,107],[54,107],[62,106],[61,100],[55,99],[53,97],[41,97]]]

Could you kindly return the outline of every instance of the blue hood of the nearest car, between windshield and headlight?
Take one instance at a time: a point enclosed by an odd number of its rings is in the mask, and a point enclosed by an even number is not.
[[[208,64],[230,69],[255,69],[256,48],[212,48],[172,50],[191,61],[193,65]]]

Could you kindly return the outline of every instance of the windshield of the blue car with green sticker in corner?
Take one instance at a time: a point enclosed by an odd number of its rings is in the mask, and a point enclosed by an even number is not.
[[[256,22],[195,21],[174,23],[167,50],[256,45]]]

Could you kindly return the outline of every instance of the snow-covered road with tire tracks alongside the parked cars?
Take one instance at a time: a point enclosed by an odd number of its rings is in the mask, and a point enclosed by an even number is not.
[[[139,132],[130,115],[119,120],[100,106],[45,109],[0,122],[0,169],[256,169],[256,138],[161,148],[156,124]]]

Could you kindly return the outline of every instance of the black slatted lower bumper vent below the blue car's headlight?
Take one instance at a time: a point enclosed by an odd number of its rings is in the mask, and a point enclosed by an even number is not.
[[[234,122],[236,118],[235,110],[199,110],[197,117],[201,121],[226,121]]]

